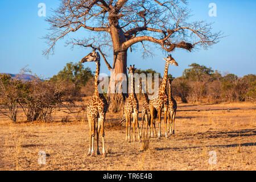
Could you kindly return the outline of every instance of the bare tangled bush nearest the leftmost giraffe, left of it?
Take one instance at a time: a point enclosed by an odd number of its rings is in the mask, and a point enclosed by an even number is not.
[[[51,121],[51,114],[55,107],[73,103],[76,93],[79,93],[73,84],[64,81],[53,83],[37,78],[24,85],[26,89],[19,104],[27,121]]]

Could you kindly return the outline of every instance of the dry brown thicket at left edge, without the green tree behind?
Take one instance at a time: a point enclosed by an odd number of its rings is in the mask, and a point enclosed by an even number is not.
[[[22,75],[22,74],[20,74]],[[76,108],[81,100],[80,89],[68,81],[45,81],[34,76],[30,81],[0,75],[0,112],[16,122],[18,105],[27,121],[52,121],[51,114],[57,106]]]

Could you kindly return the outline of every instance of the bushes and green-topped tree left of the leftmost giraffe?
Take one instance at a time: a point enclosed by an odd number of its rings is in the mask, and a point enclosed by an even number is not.
[[[90,69],[81,63],[68,63],[49,80],[34,76],[30,81],[23,81],[0,74],[0,113],[16,122],[21,107],[27,121],[51,121],[57,106],[69,109],[68,106],[81,99],[81,86],[92,76]]]

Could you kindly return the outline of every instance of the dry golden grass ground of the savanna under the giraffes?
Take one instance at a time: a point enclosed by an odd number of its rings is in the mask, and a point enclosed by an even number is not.
[[[127,143],[125,124],[122,127],[111,125],[121,115],[108,113],[105,124],[107,158],[97,154],[87,156],[86,114],[66,115],[57,111],[53,118],[59,121],[52,123],[11,123],[1,115],[0,170],[256,169],[255,104],[178,103],[175,134],[168,138],[150,138],[148,150],[143,150],[146,142]],[[163,122],[161,131],[164,135]],[[100,138],[102,154],[101,149]],[[39,151],[46,152],[44,165],[38,164]],[[210,151],[216,152],[216,164],[209,164]]]

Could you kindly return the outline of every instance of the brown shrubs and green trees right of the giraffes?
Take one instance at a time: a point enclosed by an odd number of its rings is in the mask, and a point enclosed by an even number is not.
[[[222,76],[204,65],[193,63],[185,69],[183,76],[172,82],[173,94],[182,102],[255,102],[256,75],[238,77],[234,74]]]

